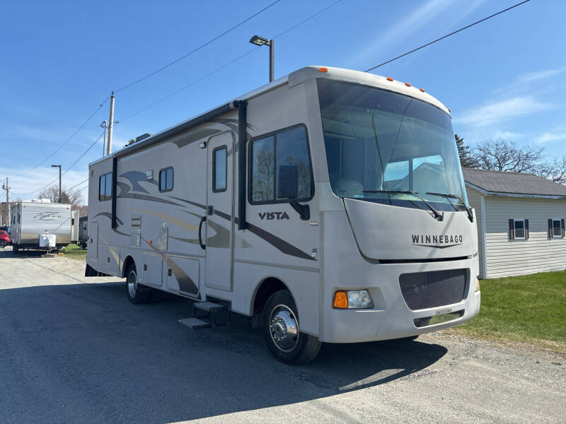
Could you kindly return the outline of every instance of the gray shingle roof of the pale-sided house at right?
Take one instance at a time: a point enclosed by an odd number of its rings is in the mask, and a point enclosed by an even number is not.
[[[566,186],[537,175],[472,168],[463,168],[462,171],[464,181],[487,192],[566,196]]]

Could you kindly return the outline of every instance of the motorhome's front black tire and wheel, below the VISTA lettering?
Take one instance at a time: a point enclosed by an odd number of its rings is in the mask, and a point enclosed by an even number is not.
[[[277,360],[289,365],[306,364],[316,358],[320,351],[318,337],[301,333],[298,318],[289,290],[273,293],[263,308],[262,330],[265,344]],[[286,319],[289,321],[285,322]],[[287,323],[296,325],[287,326]]]

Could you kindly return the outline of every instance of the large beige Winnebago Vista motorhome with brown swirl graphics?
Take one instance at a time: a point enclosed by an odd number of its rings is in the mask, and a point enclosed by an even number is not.
[[[270,351],[409,338],[480,308],[449,110],[306,67],[91,163],[87,276],[261,317]],[[182,320],[193,328],[205,323]]]

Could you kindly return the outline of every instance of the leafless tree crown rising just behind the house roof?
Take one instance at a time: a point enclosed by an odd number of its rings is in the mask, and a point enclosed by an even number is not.
[[[497,139],[479,143],[473,156],[483,170],[534,174],[543,161],[543,151],[542,147],[517,146],[513,141]]]

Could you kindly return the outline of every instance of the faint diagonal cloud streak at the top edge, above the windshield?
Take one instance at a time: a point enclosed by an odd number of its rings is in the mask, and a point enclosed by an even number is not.
[[[446,8],[451,6],[453,1],[446,0],[429,0],[416,8],[405,18],[391,25],[384,30],[379,37],[369,42],[364,48],[356,52],[351,61],[357,62],[367,57],[375,57],[376,53],[381,54],[387,52],[391,47],[399,45],[400,42],[411,37],[424,25],[436,18]]]

